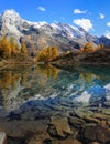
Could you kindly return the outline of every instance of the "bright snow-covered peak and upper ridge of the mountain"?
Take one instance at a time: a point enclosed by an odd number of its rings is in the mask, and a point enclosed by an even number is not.
[[[77,38],[84,38],[86,39],[86,31],[81,29],[78,29],[74,25],[64,24],[64,23],[52,23],[48,24],[47,22],[31,22],[23,20],[18,12],[12,10],[6,10],[1,16],[2,25],[4,25],[4,29],[7,28],[11,33],[23,35],[23,33],[20,30],[30,30],[30,27],[33,27],[34,29],[40,29],[44,31],[47,34],[61,34],[62,37],[68,38],[68,39],[77,39]],[[29,27],[24,27],[25,24],[29,24]],[[4,30],[3,29],[3,30]]]

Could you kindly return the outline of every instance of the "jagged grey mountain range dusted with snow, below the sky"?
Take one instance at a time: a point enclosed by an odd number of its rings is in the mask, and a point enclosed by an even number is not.
[[[92,37],[82,28],[69,24],[46,22],[30,22],[23,20],[14,10],[7,10],[0,16],[0,35],[12,35],[20,43],[26,41],[28,48],[43,49],[56,45],[61,51],[79,49],[86,42],[94,45],[110,43],[103,39]]]

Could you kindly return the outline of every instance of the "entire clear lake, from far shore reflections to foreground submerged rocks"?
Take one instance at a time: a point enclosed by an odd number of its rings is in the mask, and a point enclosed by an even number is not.
[[[0,71],[7,144],[110,144],[110,66]]]

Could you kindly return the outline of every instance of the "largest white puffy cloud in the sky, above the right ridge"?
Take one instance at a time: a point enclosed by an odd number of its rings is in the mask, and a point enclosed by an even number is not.
[[[92,30],[92,23],[89,19],[75,19],[74,23],[77,25],[80,25],[81,28],[84,28],[86,31],[89,31],[90,29]]]

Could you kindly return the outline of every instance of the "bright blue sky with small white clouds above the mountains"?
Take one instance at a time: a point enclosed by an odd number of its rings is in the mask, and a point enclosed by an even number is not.
[[[0,13],[9,9],[30,21],[69,23],[110,38],[110,0],[0,0]]]

